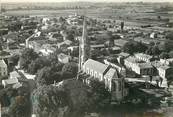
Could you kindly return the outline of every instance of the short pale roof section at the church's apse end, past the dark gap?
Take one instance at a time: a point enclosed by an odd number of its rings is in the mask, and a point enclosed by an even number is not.
[[[104,77],[109,78],[109,79],[118,78],[116,69],[110,68]]]

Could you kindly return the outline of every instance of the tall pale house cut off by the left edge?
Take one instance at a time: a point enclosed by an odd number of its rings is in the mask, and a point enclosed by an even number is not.
[[[2,59],[0,60],[0,77],[7,76],[7,75],[8,75],[7,64]]]

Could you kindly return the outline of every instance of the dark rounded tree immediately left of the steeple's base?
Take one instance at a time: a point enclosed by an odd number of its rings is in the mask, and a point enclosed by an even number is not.
[[[62,72],[69,73],[71,77],[75,77],[78,72],[78,66],[74,62],[66,63],[62,68]]]

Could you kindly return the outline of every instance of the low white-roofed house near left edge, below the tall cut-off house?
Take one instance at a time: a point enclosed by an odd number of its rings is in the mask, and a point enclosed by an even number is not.
[[[4,86],[4,88],[7,86],[13,86],[14,84],[17,83],[19,83],[17,78],[2,80],[2,85]]]

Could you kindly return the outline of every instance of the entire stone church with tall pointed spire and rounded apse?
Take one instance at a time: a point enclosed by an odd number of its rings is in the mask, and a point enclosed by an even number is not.
[[[111,100],[121,102],[128,94],[124,78],[119,77],[117,70],[111,66],[90,59],[90,41],[87,38],[86,25],[86,17],[84,17],[83,34],[81,40],[79,40],[78,70],[89,75],[90,79],[98,79],[100,82],[104,82],[105,87],[111,92]]]

